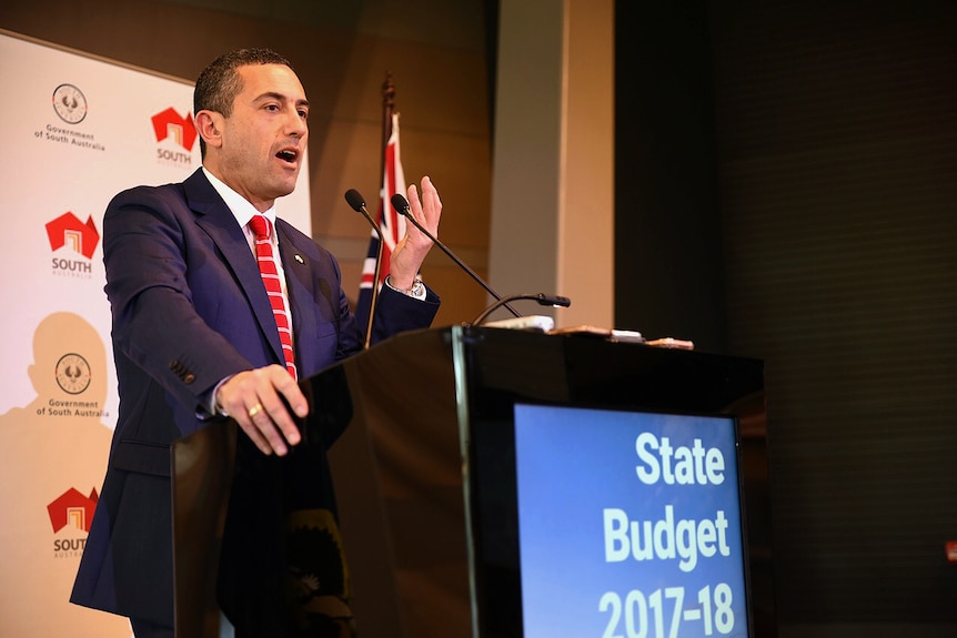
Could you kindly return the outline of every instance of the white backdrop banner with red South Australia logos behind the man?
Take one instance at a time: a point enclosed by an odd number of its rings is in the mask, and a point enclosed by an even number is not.
[[[69,604],[119,399],[100,241],[118,192],[200,166],[192,84],[0,30],[0,636],[130,636]],[[311,233],[309,165],[276,212]]]

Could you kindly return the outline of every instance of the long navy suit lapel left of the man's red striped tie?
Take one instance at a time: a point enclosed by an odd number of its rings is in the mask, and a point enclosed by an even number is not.
[[[203,175],[202,170],[190,175],[183,182],[183,189],[187,203],[197,213],[197,225],[210,236],[233,272],[260,325],[261,336],[273,352],[275,362],[284,362],[272,306],[242,229],[236,224],[229,206]]]

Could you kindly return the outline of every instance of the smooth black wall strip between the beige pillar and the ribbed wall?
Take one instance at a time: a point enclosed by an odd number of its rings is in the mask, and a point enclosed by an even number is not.
[[[705,3],[615,6],[615,325],[725,348]]]

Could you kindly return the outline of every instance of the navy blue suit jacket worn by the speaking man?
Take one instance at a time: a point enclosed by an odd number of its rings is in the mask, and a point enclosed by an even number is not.
[[[335,259],[278,220],[300,377],[362,348]],[[222,378],[283,363],[242,230],[201,170],[117,195],[103,219],[120,411],[71,600],[172,625],[170,445],[208,423]],[[439,306],[383,287],[373,341],[427,327]]]

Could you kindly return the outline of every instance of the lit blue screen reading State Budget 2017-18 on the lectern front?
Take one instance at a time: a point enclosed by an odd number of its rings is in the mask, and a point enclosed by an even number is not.
[[[513,416],[472,431],[482,636],[751,636],[733,416]]]

